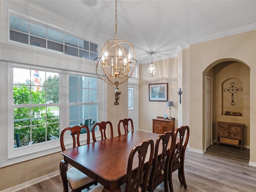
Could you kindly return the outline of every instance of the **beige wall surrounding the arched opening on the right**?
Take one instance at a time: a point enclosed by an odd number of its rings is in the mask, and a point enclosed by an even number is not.
[[[256,82],[256,30],[190,46],[190,148],[205,150],[203,72],[223,58],[242,62],[250,68],[250,82]],[[206,74],[205,73],[205,74]],[[193,91],[191,91],[193,90]],[[256,124],[256,87],[250,84],[250,125]],[[250,129],[250,162],[256,164],[256,127]]]

